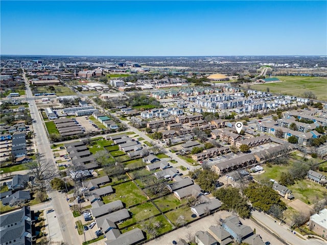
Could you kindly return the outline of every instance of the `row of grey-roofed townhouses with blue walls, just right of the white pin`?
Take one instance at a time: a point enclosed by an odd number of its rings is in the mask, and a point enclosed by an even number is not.
[[[257,125],[257,130],[259,132],[265,132],[268,134],[273,134],[276,135],[277,131],[282,131],[283,135],[282,138],[288,139],[291,136],[295,136],[298,140],[298,144],[301,145],[308,145],[308,143],[310,142],[310,140],[312,138],[320,138],[321,134],[318,133],[315,130],[306,132],[306,133],[302,133],[299,131],[294,131],[288,128],[284,128],[284,127],[279,127],[277,123],[275,122],[271,122],[271,121],[267,121],[267,122],[259,122]]]

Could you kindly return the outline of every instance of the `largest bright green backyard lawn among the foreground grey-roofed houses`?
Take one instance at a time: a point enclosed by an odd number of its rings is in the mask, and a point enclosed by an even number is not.
[[[115,189],[115,193],[103,197],[104,203],[121,200],[126,207],[129,207],[147,200],[145,194],[132,181],[115,185],[112,188]]]

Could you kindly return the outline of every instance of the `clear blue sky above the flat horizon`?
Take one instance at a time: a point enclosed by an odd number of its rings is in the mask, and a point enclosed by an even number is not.
[[[327,55],[326,1],[1,1],[3,55]]]

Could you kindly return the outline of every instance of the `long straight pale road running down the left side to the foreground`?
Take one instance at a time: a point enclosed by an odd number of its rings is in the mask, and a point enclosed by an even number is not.
[[[35,142],[37,152],[40,154],[40,160],[45,161],[48,164],[53,166],[53,170],[57,171],[59,175],[59,170],[54,161],[53,153],[51,150],[51,144],[49,142],[48,137],[46,136],[45,126],[43,125],[43,120],[41,118],[41,114],[38,112],[36,103],[34,100],[34,96],[32,94],[29,83],[26,79],[25,73],[23,75],[26,84],[26,100],[29,103],[29,109],[31,113],[31,117],[35,120],[33,122],[33,129],[35,132]],[[66,242],[69,245],[75,245],[76,237],[72,236],[77,231],[75,230],[75,225],[71,222],[71,218],[73,218],[72,212],[69,209],[69,205],[65,203],[65,197],[62,197],[62,194],[59,194],[57,191],[49,191],[49,197],[51,198],[51,205],[55,209],[56,219],[60,226],[60,230],[56,231],[56,239]],[[51,234],[51,228],[50,228]],[[81,244],[79,242],[78,244]]]

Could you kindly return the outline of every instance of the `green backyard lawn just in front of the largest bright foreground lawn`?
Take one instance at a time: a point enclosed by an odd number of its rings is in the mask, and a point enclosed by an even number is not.
[[[141,220],[145,218],[149,218],[153,215],[160,213],[159,210],[156,209],[156,207],[154,207],[154,205],[151,202],[137,205],[135,207],[128,209],[128,211],[132,213],[132,218],[127,219],[125,222],[120,224],[119,228],[129,226],[136,222],[141,222]]]

